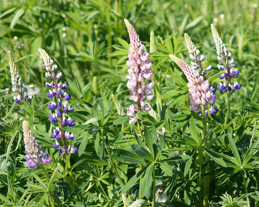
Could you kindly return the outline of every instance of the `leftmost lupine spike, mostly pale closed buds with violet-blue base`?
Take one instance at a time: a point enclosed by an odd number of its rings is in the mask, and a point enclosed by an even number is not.
[[[13,93],[18,93],[18,96],[13,96],[13,100],[16,103],[20,103],[22,100],[32,100],[32,95],[27,95],[27,88],[25,87],[25,83],[22,81],[16,64],[13,59],[13,55],[11,51],[8,51],[8,58],[9,58],[9,65],[10,65],[10,72],[12,78],[12,91]]]

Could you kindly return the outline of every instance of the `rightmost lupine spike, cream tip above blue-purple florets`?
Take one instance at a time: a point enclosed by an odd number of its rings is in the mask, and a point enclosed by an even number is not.
[[[217,49],[217,60],[219,62],[225,62],[225,65],[217,65],[217,68],[220,70],[224,70],[224,72],[219,76],[220,79],[226,79],[228,81],[228,84],[220,84],[217,86],[217,89],[219,89],[222,92],[231,92],[234,93],[235,90],[238,90],[241,88],[241,84],[238,84],[237,82],[234,82],[234,85],[231,84],[231,79],[232,78],[237,78],[239,74],[239,69],[234,68],[236,67],[236,62],[232,58],[232,54],[229,52],[228,49],[226,48],[225,44],[220,38],[219,33],[217,32],[215,26],[213,24],[211,26],[211,31],[213,35],[214,42],[216,44],[216,49]],[[227,89],[227,90],[226,90]]]

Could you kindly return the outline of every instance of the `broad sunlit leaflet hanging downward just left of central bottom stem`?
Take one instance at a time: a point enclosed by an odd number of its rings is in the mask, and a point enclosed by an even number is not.
[[[147,167],[144,176],[140,181],[139,190],[142,198],[151,191],[152,182],[150,180],[152,179],[153,166],[154,164],[152,163]]]

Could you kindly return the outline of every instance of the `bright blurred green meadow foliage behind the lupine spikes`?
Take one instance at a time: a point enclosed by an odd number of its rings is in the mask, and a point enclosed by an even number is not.
[[[123,107],[128,107],[130,104],[125,78],[126,59],[120,59],[118,62],[119,58],[115,52],[117,48],[112,46],[119,45],[117,38],[129,42],[123,22],[124,18],[132,23],[148,51],[151,31],[155,32],[158,44],[159,36],[165,39],[167,33],[175,33],[177,37],[183,36],[187,32],[196,46],[202,46],[199,49],[206,56],[205,65],[211,64],[213,67],[211,75],[218,73],[216,49],[210,30],[210,24],[214,23],[241,71],[239,83],[242,84],[242,88],[234,93],[232,99],[232,116],[240,115],[235,125],[236,129],[246,122],[246,130],[251,132],[253,122],[257,121],[254,115],[258,115],[259,109],[256,110],[256,105],[248,107],[251,102],[248,103],[244,100],[250,99],[258,103],[259,10],[257,3],[257,1],[248,0],[0,1],[0,8],[2,8],[0,11],[0,154],[4,154],[6,151],[5,138],[8,138],[8,144],[13,132],[20,127],[24,119],[23,109],[15,106],[12,96],[9,95],[8,122],[4,121],[6,118],[5,88],[11,88],[6,48],[12,51],[22,79],[27,85],[33,84],[34,87],[40,89],[41,92],[36,95],[35,99],[37,109],[49,101],[45,95],[47,92],[47,88],[44,87],[45,77],[42,78],[44,76],[41,68],[42,60],[37,56],[37,49],[44,48],[62,71],[62,80],[68,83],[68,93],[72,96],[70,102],[75,103],[74,107],[77,110],[83,110],[84,108],[79,103],[81,100],[95,105],[96,96],[99,96],[102,100],[106,100],[105,107],[106,112],[109,111],[109,120],[114,120],[118,118],[118,114],[111,94],[118,97]],[[186,48],[185,44],[179,45],[179,47],[180,49],[181,47]],[[111,52],[115,52],[112,53],[114,55],[108,55]],[[187,50],[179,53],[179,57],[187,63],[190,62]],[[156,56],[153,56],[152,60],[155,59]],[[160,73],[164,74],[168,67],[168,62],[162,62]],[[97,77],[99,86],[97,92],[94,91],[92,84],[94,76]],[[170,78],[174,79],[174,73],[171,70],[166,77],[168,79],[166,78],[161,85],[161,99],[163,103],[168,103],[166,113],[171,125],[176,121],[175,128],[170,131],[173,134],[186,121],[182,110],[189,109],[189,100],[186,90],[185,93],[173,95],[172,91],[179,90],[179,86],[170,81]],[[219,79],[215,79],[211,84],[215,87],[219,82]],[[226,94],[217,91],[216,95],[216,106],[221,108],[227,100]],[[158,112],[155,98],[150,104]],[[220,111],[220,115],[223,117],[224,113],[225,110]],[[46,132],[45,134],[40,134],[40,132],[43,133],[46,130],[48,132],[50,126],[45,124],[46,117],[34,115],[35,119],[32,121],[38,127],[37,130],[34,128],[34,132],[41,141],[40,137],[46,135]],[[113,139],[119,132],[120,127],[110,129],[108,131],[111,135],[110,139],[114,141]],[[112,137],[113,135],[115,137]],[[255,135],[258,136],[257,131]],[[52,140],[49,142],[43,140],[42,144],[43,147],[50,147]],[[239,145],[241,146],[241,142]],[[90,159],[92,153],[95,153],[93,146],[94,140],[90,139],[82,155],[84,159]],[[15,154],[16,158],[19,158],[19,154],[22,153],[23,146],[20,143],[18,152]],[[83,158],[80,157],[80,159]],[[78,157],[73,159],[73,163],[78,161]],[[18,161],[20,161],[18,168],[22,168],[22,157]],[[80,172],[84,172],[84,170],[87,170],[87,167],[78,168]],[[135,173],[135,169],[132,168],[129,168],[128,171],[129,177]],[[78,174],[78,182],[86,177]],[[1,187],[5,192],[7,191],[4,185]],[[97,192],[99,191],[101,190],[98,188],[92,191],[95,199],[96,196],[98,198]],[[221,195],[221,192],[218,195]],[[105,199],[109,200],[107,198]],[[101,201],[97,200],[94,201],[95,204],[102,205]]]

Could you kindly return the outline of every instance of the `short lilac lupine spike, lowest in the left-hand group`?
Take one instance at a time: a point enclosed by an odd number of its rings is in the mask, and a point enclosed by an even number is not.
[[[23,121],[23,141],[25,152],[27,153],[25,158],[29,168],[38,167],[41,163],[44,165],[51,163],[51,157],[48,154],[44,154],[44,149],[36,142],[27,121]]]

